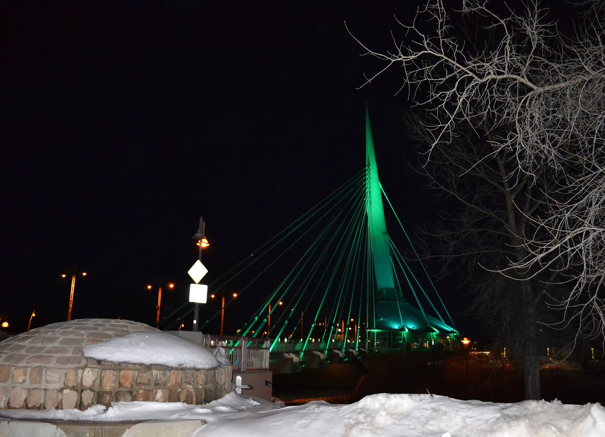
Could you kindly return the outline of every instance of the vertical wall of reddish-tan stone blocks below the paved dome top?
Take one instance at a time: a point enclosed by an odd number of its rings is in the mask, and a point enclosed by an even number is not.
[[[82,369],[0,366],[0,409],[80,409],[111,402],[206,404],[231,392],[232,367],[181,369],[91,360]]]

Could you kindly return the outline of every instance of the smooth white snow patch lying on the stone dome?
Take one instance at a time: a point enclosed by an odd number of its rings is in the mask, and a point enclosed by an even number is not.
[[[159,364],[169,367],[212,369],[217,357],[199,344],[166,332],[137,332],[86,346],[84,356],[96,360],[131,364]],[[221,357],[221,361],[223,357]]]

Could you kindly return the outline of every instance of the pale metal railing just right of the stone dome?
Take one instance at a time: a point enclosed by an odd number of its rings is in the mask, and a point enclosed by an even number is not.
[[[204,334],[201,340],[201,346],[211,350],[223,347],[238,372],[269,370],[269,344],[270,340],[266,338],[212,334]]]

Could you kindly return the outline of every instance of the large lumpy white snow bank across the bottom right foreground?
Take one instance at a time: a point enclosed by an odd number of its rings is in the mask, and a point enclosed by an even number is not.
[[[208,418],[206,418],[208,420]],[[371,395],[351,405],[309,402],[209,420],[193,437],[603,437],[605,409],[526,401],[494,404],[431,395]]]

